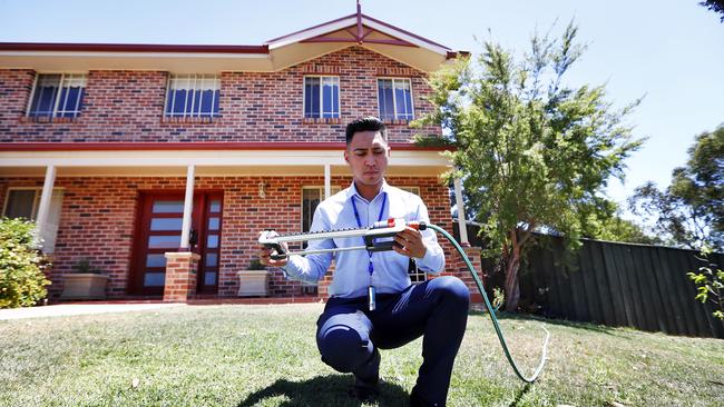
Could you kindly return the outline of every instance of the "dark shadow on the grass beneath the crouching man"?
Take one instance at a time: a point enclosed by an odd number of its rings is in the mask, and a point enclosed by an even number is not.
[[[352,375],[317,376],[309,380],[291,381],[277,379],[271,386],[257,390],[237,407],[257,406],[265,399],[280,398],[278,406],[362,406],[362,403],[348,396],[348,389],[354,384]],[[379,406],[407,406],[409,395],[399,385],[381,381]]]

